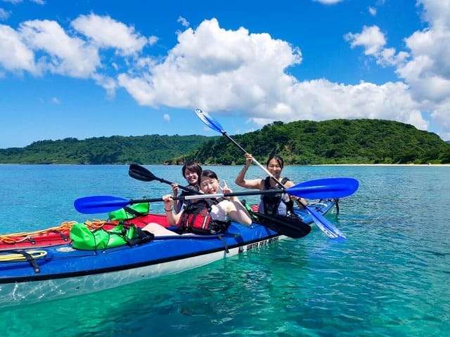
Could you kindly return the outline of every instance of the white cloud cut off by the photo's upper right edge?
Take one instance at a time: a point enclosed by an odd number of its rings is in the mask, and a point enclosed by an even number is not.
[[[388,47],[385,34],[377,26],[363,27],[345,39],[352,48],[364,48],[364,54],[378,65],[395,67],[399,79],[416,109],[427,112],[439,127],[439,135],[450,139],[450,1],[418,0],[428,26],[405,37],[405,51]],[[394,98],[392,98],[394,99]],[[411,112],[411,124],[426,129],[418,115]],[[406,119],[400,119],[406,121]]]

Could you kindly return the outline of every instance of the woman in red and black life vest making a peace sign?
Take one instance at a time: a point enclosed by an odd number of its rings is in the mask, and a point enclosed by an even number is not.
[[[217,174],[211,170],[204,170],[200,175],[200,191],[205,194],[231,193],[231,189],[224,182],[224,187],[220,186]],[[172,211],[174,199],[172,195],[165,195],[164,210],[167,221],[171,226],[177,226],[179,233],[193,232],[195,234],[218,234],[224,232],[233,220],[242,225],[250,226],[252,218],[245,206],[241,204],[238,197],[226,198],[203,198],[192,201],[180,213]],[[176,235],[175,232],[167,230],[158,223],[149,223],[143,230],[155,235]]]

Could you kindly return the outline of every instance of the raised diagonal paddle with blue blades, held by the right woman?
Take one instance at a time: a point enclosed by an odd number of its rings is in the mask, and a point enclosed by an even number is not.
[[[222,128],[222,126],[219,124],[219,122],[217,122],[214,118],[212,118],[210,116],[210,114],[208,114],[207,112],[204,112],[201,109],[195,109],[195,114],[197,114],[198,118],[200,118],[203,121],[203,123],[205,123],[206,126],[212,128],[214,131],[217,131],[217,132],[221,133],[223,136],[226,136],[226,138],[231,140],[231,143],[236,145],[243,153],[245,153],[245,154],[248,153],[247,151],[245,151],[245,149],[243,147],[241,147],[238,143],[236,143],[236,141],[233,140],[233,138],[228,136],[226,131],[224,131],[224,128]],[[253,158],[253,162],[255,164],[257,164],[257,166],[259,166],[259,168],[261,168],[269,177],[274,179],[276,181],[276,183],[278,183],[278,185],[280,185],[280,187],[283,188],[283,190],[285,190],[283,184],[280,181],[278,181],[274,177],[273,174],[271,174],[269,171],[267,171],[267,169],[264,166],[259,164],[259,162],[255,158]],[[356,180],[356,179],[353,179],[353,180],[354,181],[352,182],[352,185],[354,187],[356,187],[356,189],[357,189],[358,185],[359,185],[358,180]],[[355,191],[356,191],[356,189],[355,189]],[[300,197],[300,195],[296,195],[296,197]],[[305,196],[301,196],[301,197],[305,197]],[[314,198],[314,197],[305,197],[305,198],[317,199],[317,198]],[[323,199],[327,199],[327,198],[323,197]],[[333,223],[330,223],[330,221],[327,218],[325,218],[325,216],[323,216],[321,213],[319,213],[315,209],[312,209],[308,205],[305,205],[305,207],[306,207],[308,213],[313,218],[314,223],[316,223],[317,227],[319,227],[322,230],[322,232],[324,232],[328,237],[340,238],[340,239],[345,239],[346,238],[345,234],[342,233],[340,230],[338,230],[338,228],[335,225],[333,225]]]

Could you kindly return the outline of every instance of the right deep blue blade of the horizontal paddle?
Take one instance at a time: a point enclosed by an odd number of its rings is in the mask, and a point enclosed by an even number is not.
[[[348,197],[356,192],[358,187],[359,182],[354,178],[324,178],[288,187],[286,192],[307,199],[335,199]]]

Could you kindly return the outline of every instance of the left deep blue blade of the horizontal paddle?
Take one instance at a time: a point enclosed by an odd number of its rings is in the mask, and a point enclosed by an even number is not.
[[[94,195],[74,201],[73,206],[83,214],[108,213],[129,205],[128,199],[110,197],[108,195]]]

